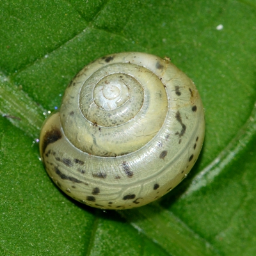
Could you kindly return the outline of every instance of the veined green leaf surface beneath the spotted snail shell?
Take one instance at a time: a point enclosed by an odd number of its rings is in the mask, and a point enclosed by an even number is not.
[[[252,0],[1,1],[1,255],[256,255],[255,19]],[[205,143],[161,200],[100,211],[52,184],[37,139],[72,77],[124,51],[193,79]]]

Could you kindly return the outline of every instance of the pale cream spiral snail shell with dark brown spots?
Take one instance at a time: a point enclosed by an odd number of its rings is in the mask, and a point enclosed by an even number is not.
[[[168,193],[195,164],[205,132],[195,84],[170,59],[111,54],[84,67],[40,133],[40,156],[67,195],[131,209]]]

